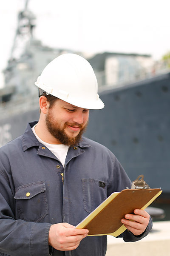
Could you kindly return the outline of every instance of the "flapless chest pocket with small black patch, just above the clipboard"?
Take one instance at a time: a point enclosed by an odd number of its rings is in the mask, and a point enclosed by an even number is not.
[[[91,213],[106,199],[106,182],[98,179],[82,179],[84,209]]]

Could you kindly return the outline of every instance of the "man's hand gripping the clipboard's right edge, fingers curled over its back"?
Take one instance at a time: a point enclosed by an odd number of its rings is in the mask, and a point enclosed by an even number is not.
[[[134,210],[135,214],[126,214],[125,219],[121,219],[121,222],[125,227],[133,233],[135,236],[141,235],[147,228],[150,215],[145,210]]]

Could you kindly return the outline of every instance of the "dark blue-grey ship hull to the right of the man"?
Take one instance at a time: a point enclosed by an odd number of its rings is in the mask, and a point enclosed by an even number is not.
[[[104,91],[86,136],[108,147],[131,180],[170,192],[170,73]]]

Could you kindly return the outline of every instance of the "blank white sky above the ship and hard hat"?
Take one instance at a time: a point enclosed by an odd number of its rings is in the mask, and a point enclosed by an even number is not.
[[[0,88],[10,57],[17,14],[26,0],[0,0]],[[170,51],[170,0],[29,0],[34,35],[43,45],[89,54]]]

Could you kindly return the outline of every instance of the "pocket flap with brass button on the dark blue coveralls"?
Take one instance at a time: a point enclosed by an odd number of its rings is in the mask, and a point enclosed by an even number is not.
[[[31,199],[33,196],[44,192],[45,182],[37,181],[18,187],[15,191],[15,199]]]

